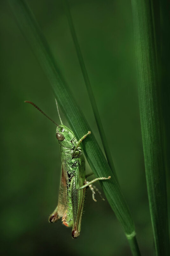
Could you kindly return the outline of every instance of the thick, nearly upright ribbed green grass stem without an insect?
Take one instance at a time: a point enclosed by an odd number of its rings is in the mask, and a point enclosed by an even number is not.
[[[156,255],[167,256],[170,252],[160,93],[159,1],[132,0],[132,10],[140,120],[154,243]]]

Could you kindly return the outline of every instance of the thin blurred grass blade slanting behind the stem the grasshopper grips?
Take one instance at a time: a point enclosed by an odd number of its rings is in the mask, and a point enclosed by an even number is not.
[[[87,92],[88,92],[90,102],[91,102],[91,105],[92,105],[95,120],[96,120],[98,129],[99,129],[99,134],[100,134],[100,137],[101,137],[101,140],[102,140],[102,144],[103,144],[103,148],[104,148],[105,155],[106,155],[106,158],[107,158],[107,162],[108,162],[112,172],[114,173],[114,176],[117,178],[115,167],[114,167],[112,156],[111,156],[111,152],[109,150],[109,146],[108,146],[108,143],[107,143],[107,139],[106,139],[106,136],[105,136],[103,125],[102,125],[102,122],[101,122],[101,119],[100,119],[100,116],[99,116],[98,107],[96,105],[96,100],[95,100],[95,97],[94,97],[94,94],[93,94],[93,91],[92,91],[92,86],[91,86],[89,76],[87,74],[87,70],[86,70],[86,67],[85,67],[84,60],[83,60],[83,56],[82,56],[82,53],[81,53],[81,50],[80,50],[80,46],[79,46],[79,43],[78,43],[76,31],[75,31],[75,28],[74,28],[74,25],[73,25],[73,21],[72,21],[72,18],[71,18],[71,13],[70,13],[70,8],[69,8],[69,4],[68,4],[67,0],[64,0],[64,7],[65,7],[65,13],[66,13],[66,17],[67,17],[67,20],[68,20],[68,23],[69,23],[72,39],[73,39],[73,42],[74,42],[74,45],[75,45],[75,48],[76,48],[78,61],[79,61],[81,71],[82,71],[82,74],[83,74],[83,77],[84,77],[84,80],[85,80],[85,85],[86,85]]]

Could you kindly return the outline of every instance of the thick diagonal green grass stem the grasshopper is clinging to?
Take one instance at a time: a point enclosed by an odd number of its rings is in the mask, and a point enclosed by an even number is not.
[[[91,129],[80,111],[80,108],[76,104],[76,100],[73,98],[69,87],[64,82],[64,79],[59,75],[58,68],[49,46],[33,14],[31,13],[30,8],[23,0],[9,0],[9,3],[15,14],[18,26],[30,44],[40,65],[44,69],[44,72],[52,86],[54,95],[57,98],[75,136],[77,138],[81,138],[82,135]],[[100,182],[100,185],[103,188],[105,196],[115,212],[115,215],[120,221],[128,240],[130,241],[133,255],[140,255],[137,243],[133,242],[136,241],[136,237],[134,223],[129,212],[129,208],[123,198],[119,184],[117,183],[115,176],[99,148],[93,132],[91,136],[88,136],[82,142],[82,148],[92,171],[97,177],[112,176],[109,181]]]

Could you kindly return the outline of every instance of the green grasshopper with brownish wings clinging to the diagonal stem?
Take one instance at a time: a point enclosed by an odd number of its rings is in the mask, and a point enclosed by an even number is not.
[[[77,238],[80,234],[81,229],[81,218],[83,212],[83,204],[85,197],[85,189],[87,186],[92,190],[93,200],[94,189],[92,188],[92,183],[99,180],[108,180],[111,178],[100,177],[96,178],[90,182],[86,181],[86,177],[90,175],[85,175],[85,158],[82,154],[80,143],[85,139],[86,136],[91,134],[88,131],[79,141],[77,141],[73,132],[63,125],[60,118],[58,105],[58,115],[61,121],[61,125],[55,123],[50,117],[48,117],[40,108],[37,107],[31,101],[25,101],[30,103],[37,108],[42,114],[44,114],[48,119],[50,119],[56,126],[56,138],[60,144],[61,150],[61,182],[59,188],[58,196],[58,206],[54,212],[50,215],[49,221],[56,222],[62,217],[62,222],[67,227],[72,227],[72,237]],[[56,101],[57,104],[57,101]]]

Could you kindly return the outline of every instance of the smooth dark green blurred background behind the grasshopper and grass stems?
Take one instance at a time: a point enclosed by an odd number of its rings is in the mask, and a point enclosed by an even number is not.
[[[102,148],[62,0],[27,1]],[[153,255],[139,120],[130,0],[70,0],[78,41],[142,255]],[[55,99],[7,1],[0,1],[1,251],[3,255],[131,255],[107,201],[87,190],[81,234],[48,223],[57,205],[61,159]],[[67,120],[61,112],[64,124]],[[103,150],[103,149],[102,149]],[[87,173],[90,172],[88,163]],[[100,189],[99,184],[97,187]],[[101,190],[101,189],[100,189]],[[102,191],[101,191],[102,192]]]

